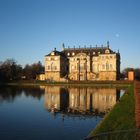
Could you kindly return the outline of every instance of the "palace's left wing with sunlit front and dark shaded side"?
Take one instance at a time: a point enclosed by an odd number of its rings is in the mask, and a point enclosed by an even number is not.
[[[50,81],[65,81],[68,60],[61,52],[52,51],[45,56],[45,79]]]

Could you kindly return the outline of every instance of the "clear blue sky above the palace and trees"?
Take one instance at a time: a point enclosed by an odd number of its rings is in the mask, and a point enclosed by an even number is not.
[[[53,48],[106,45],[140,67],[139,0],[0,0],[0,61],[44,63]]]

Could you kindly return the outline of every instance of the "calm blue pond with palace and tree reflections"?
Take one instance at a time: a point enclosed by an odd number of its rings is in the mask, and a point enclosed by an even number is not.
[[[115,88],[1,87],[0,140],[82,140],[120,96]]]

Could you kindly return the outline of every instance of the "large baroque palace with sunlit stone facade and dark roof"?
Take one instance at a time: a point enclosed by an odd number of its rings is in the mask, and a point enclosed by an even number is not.
[[[45,56],[45,80],[103,81],[120,78],[120,53],[106,46],[56,48]]]

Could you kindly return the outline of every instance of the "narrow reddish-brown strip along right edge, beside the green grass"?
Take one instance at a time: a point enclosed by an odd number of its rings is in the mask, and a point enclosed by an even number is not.
[[[140,128],[140,82],[134,82],[136,127]]]

